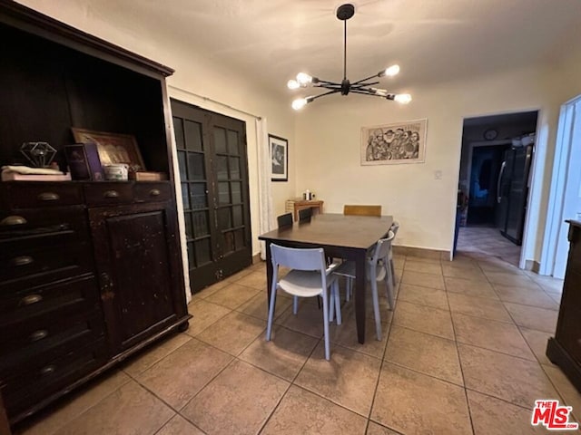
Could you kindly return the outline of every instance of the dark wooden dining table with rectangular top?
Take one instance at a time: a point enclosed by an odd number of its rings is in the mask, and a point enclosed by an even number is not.
[[[310,222],[295,222],[292,227],[281,227],[258,237],[266,243],[267,298],[271,296],[271,244],[283,247],[322,247],[325,256],[344,258],[355,262],[355,320],[359,343],[365,343],[365,259],[377,241],[385,237],[393,217],[345,216],[340,214],[315,215]]]

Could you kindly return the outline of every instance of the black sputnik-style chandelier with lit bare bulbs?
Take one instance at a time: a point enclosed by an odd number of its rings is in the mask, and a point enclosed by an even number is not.
[[[337,8],[337,18],[339,18],[344,24],[343,31],[343,80],[341,82],[329,82],[327,80],[320,80],[317,77],[312,77],[307,73],[298,73],[296,80],[290,80],[287,83],[289,89],[299,89],[311,86],[314,88],[328,89],[329,92],[323,92],[319,95],[311,95],[306,98],[299,98],[292,102],[292,108],[298,111],[304,107],[307,103],[313,102],[314,100],[324,97],[325,95],[330,95],[331,93],[341,92],[341,95],[347,95],[349,92],[362,93],[363,95],[371,95],[375,97],[385,98],[387,100],[400,102],[402,104],[407,104],[411,102],[411,95],[409,93],[391,93],[385,89],[374,88],[373,86],[379,84],[379,82],[372,82],[377,77],[389,76],[392,77],[399,73],[399,65],[391,65],[389,68],[380,71],[377,74],[370,75],[365,79],[358,80],[357,82],[350,82],[347,78],[347,20],[355,14],[355,6],[351,4],[340,5]]]

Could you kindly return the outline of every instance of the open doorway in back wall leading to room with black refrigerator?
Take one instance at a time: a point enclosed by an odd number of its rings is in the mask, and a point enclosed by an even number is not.
[[[537,116],[526,111],[464,120],[455,250],[522,266]]]

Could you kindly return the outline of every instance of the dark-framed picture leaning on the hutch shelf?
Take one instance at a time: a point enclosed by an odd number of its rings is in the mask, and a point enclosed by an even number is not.
[[[135,137],[131,134],[107,133],[72,127],[74,140],[79,143],[94,143],[99,151],[101,164],[126,163],[129,170],[145,170],[142,154]]]

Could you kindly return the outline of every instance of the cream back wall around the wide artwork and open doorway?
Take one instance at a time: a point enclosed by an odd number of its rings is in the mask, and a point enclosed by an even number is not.
[[[316,191],[330,212],[340,212],[345,203],[381,204],[384,214],[401,222],[399,245],[450,250],[463,119],[540,110],[539,126],[550,132],[555,129],[558,103],[547,78],[550,76],[527,69],[467,82],[418,86],[409,90],[414,100],[408,106],[359,95],[312,102],[297,119],[297,189]],[[360,166],[361,127],[422,118],[428,119],[425,163]],[[547,140],[545,134],[537,143],[542,162],[537,169],[540,184]],[[435,178],[436,171],[441,171],[441,179]],[[538,213],[543,192],[537,190],[531,205]],[[539,220],[531,219],[532,251],[537,246]]]

